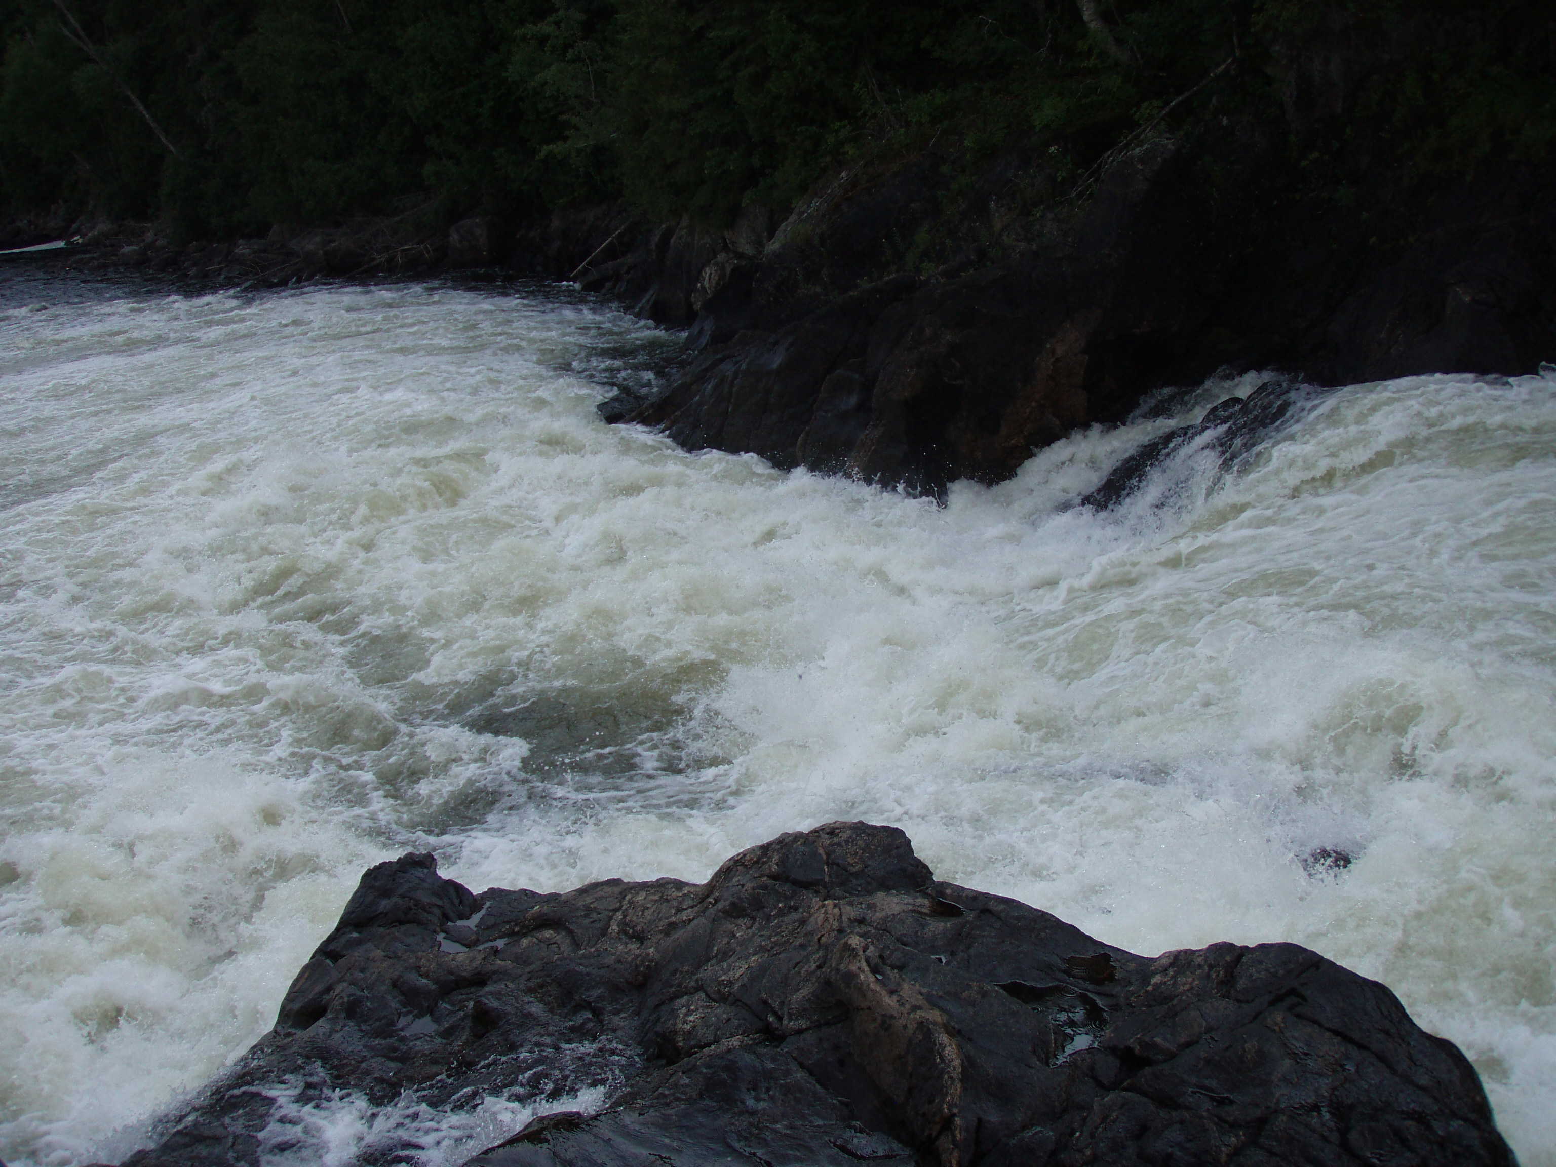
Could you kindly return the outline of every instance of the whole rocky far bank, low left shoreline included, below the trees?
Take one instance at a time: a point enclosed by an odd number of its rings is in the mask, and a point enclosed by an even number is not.
[[[1302,198],[1282,187],[1296,174],[1279,135],[1231,118],[1142,138],[1086,176],[1019,151],[971,185],[965,168],[934,148],[848,166],[784,218],[753,205],[722,230],[621,205],[177,246],[107,224],[51,261],[227,286],[573,280],[688,330],[683,369],[607,401],[608,420],[923,493],[1008,478],[1072,429],[1217,370],[1347,384],[1556,356],[1548,168]]]

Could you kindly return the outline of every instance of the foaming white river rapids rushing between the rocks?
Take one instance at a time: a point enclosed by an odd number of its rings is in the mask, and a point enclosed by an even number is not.
[[[12,1167],[128,1151],[370,862],[700,879],[831,818],[1139,952],[1309,944],[1556,1164],[1556,380],[1344,389],[1095,513],[1257,381],[937,509],[604,425],[674,339],[577,299],[44,282],[0,338]]]

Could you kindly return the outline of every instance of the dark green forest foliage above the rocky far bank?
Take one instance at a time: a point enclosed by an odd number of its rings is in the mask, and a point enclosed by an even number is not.
[[[0,36],[0,212],[185,233],[604,198],[720,221],[929,142],[1085,168],[1212,92],[1279,117],[1330,42],[1376,78],[1296,151],[1432,173],[1556,142],[1536,0],[14,0]]]

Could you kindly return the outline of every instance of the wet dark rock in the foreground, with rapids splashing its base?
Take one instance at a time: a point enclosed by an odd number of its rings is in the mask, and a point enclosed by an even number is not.
[[[864,823],[702,885],[471,895],[380,864],[274,1032],[126,1164],[258,1164],[282,1094],[518,1086],[554,1113],[471,1167],[1512,1164],[1474,1069],[1382,985],[1295,944],[1137,957]],[[566,1111],[585,1086],[602,1113]]]

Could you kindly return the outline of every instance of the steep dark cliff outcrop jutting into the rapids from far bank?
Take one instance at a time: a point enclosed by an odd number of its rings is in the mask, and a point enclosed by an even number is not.
[[[972,163],[930,142],[829,174],[767,232],[616,241],[585,286],[689,325],[697,355],[657,400],[604,412],[937,493],[1223,367],[1534,372],[1556,359],[1553,168],[1418,171],[1363,120],[1439,25],[1333,9],[1259,65],[1277,109],[1239,101],[1254,65],[1228,62],[1172,132],[1081,174],[1058,151]]]

